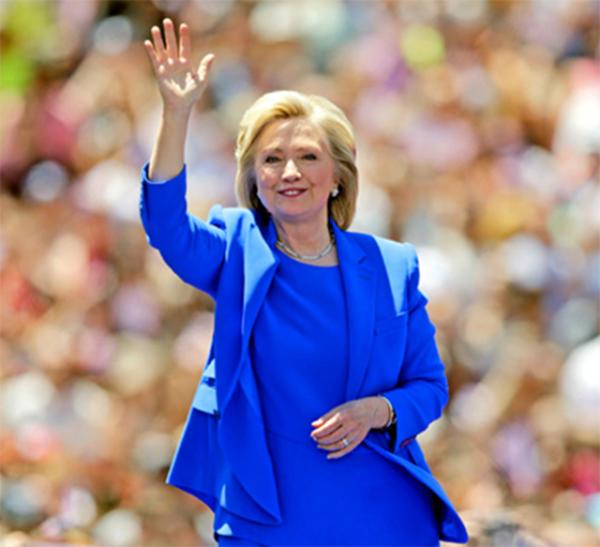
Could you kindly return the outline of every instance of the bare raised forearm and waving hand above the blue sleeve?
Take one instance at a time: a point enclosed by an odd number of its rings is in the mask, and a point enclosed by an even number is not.
[[[165,19],[164,40],[160,28],[152,27],[152,41],[144,46],[162,97],[160,129],[152,150],[148,175],[151,180],[166,180],[177,175],[184,164],[185,139],[194,103],[206,89],[214,55],[204,56],[198,69],[191,61],[190,29],[179,27],[179,45],[173,21]]]

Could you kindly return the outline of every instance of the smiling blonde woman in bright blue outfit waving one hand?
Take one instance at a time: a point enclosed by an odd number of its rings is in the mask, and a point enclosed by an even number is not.
[[[215,512],[220,545],[438,545],[463,523],[415,436],[447,402],[414,247],[347,232],[357,171],[328,100],[268,93],[237,140],[241,208],[187,213],[187,123],[214,56],[188,27],[147,48],[163,99],[142,171],[147,238],[216,301],[215,332],[167,482]]]

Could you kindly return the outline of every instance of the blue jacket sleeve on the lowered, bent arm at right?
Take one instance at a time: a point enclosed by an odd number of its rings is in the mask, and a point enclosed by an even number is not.
[[[394,452],[437,420],[448,402],[448,381],[435,343],[435,327],[425,310],[427,298],[419,290],[417,254],[413,245],[405,245],[409,251],[406,350],[398,387],[382,393],[396,413],[396,424],[390,428]]]

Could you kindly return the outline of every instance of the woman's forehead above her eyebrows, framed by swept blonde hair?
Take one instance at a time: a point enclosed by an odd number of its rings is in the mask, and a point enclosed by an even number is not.
[[[317,146],[327,148],[325,133],[321,127],[307,118],[273,120],[260,134],[258,150],[288,146]]]

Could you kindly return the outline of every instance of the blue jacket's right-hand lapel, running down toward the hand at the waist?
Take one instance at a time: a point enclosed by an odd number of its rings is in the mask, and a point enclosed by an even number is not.
[[[368,365],[375,323],[375,272],[364,250],[332,222],[346,295],[348,321],[348,383],[346,400],[356,399]]]

